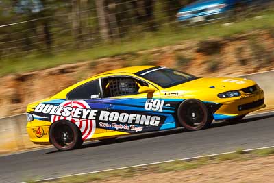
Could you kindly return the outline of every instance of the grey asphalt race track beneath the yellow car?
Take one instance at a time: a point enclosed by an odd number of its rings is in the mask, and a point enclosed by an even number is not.
[[[82,149],[55,148],[0,157],[0,182],[22,182],[146,164],[177,158],[274,145],[274,112],[246,117],[240,123],[221,121],[207,130],[183,129],[124,136],[114,143],[94,141]]]

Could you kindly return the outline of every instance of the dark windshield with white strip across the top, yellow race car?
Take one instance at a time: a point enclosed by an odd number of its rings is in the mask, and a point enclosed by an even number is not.
[[[136,75],[144,77],[145,79],[158,84],[162,88],[169,88],[198,78],[187,73],[182,73],[173,69],[166,69],[164,67],[154,67],[145,71],[140,71],[136,73]]]

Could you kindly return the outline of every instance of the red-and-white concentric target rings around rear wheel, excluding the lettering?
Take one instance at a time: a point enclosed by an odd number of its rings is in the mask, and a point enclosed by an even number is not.
[[[82,132],[83,140],[91,138],[96,128],[95,120],[73,118],[73,113],[75,112],[76,108],[90,109],[90,106],[88,106],[88,103],[86,103],[86,101],[64,101],[63,103],[60,104],[60,106],[64,106],[64,107],[67,106],[67,107],[73,108],[71,115],[69,117],[51,115],[51,122],[53,123],[55,121],[59,121],[62,119],[71,121],[79,127],[79,130]]]

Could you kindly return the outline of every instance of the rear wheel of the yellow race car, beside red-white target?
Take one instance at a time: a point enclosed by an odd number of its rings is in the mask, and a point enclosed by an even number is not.
[[[51,143],[60,151],[69,151],[82,146],[82,134],[71,121],[56,121],[49,130]]]

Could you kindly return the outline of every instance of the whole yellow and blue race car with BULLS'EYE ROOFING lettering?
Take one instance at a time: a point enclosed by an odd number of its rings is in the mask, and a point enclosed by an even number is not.
[[[61,151],[84,141],[240,120],[264,105],[252,80],[201,78],[161,66],[116,69],[78,82],[27,106],[27,132],[36,144]]]

